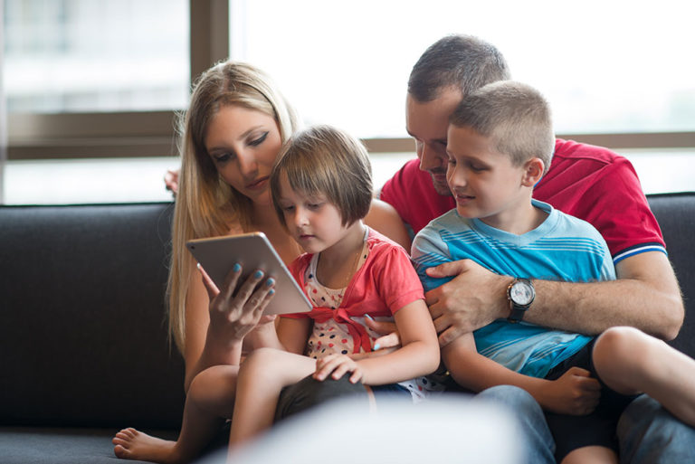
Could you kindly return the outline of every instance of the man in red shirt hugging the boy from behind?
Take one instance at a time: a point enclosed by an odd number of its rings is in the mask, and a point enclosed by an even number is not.
[[[446,185],[446,132],[452,110],[467,92],[504,79],[509,79],[509,71],[500,52],[470,36],[444,37],[414,65],[406,128],[415,139],[417,159],[406,163],[380,193],[414,233],[454,207]],[[536,298],[524,320],[589,335],[613,326],[638,327],[666,340],[678,335],[684,314],[678,282],[659,225],[624,157],[558,139],[534,197],[592,223],[608,243],[617,280],[534,280]],[[442,346],[509,317],[507,288],[514,276],[493,274],[471,260],[445,263],[428,273],[457,276],[426,294]],[[664,413],[651,398],[639,398],[624,412],[618,432],[623,462],[695,461],[690,444],[695,431]],[[675,440],[676,436],[683,438]]]

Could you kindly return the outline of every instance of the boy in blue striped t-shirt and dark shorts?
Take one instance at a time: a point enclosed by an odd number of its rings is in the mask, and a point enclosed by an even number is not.
[[[531,199],[555,146],[545,99],[509,80],[484,86],[454,110],[447,140],[456,209],[415,238],[425,289],[446,281],[427,268],[466,258],[517,278],[509,281],[508,320],[443,348],[454,380],[476,392],[498,384],[527,390],[547,412],[557,462],[617,462],[615,426],[635,393],[692,424],[695,361],[687,356],[633,328],[594,339],[522,322],[534,298],[528,279],[615,279],[610,252],[590,224]]]

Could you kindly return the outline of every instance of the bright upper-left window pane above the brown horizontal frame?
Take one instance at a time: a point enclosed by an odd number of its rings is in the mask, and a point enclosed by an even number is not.
[[[10,113],[181,109],[186,0],[5,0]]]

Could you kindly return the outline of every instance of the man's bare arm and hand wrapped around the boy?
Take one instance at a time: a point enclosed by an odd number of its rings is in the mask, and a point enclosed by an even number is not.
[[[633,255],[618,262],[615,271],[616,280],[595,283],[534,280],[536,299],[524,320],[587,335],[631,326],[665,340],[675,338],[684,308],[666,255]],[[471,260],[444,263],[427,274],[457,276],[425,294],[440,345],[509,316],[506,289],[512,277],[493,274]]]

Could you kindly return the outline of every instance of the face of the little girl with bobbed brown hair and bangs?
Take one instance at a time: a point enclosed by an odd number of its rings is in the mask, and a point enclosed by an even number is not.
[[[324,195],[308,195],[290,187],[287,174],[280,176],[280,206],[292,238],[309,253],[324,251],[348,233],[338,208]]]

